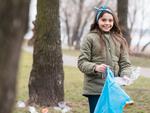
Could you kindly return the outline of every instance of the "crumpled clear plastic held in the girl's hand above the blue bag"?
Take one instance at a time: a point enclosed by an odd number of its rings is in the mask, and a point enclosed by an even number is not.
[[[132,73],[130,77],[115,77],[115,82],[119,85],[131,85],[134,83],[136,79],[140,76],[140,67],[132,68]]]

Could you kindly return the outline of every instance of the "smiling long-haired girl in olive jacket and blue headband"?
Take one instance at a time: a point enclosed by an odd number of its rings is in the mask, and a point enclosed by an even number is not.
[[[96,8],[95,21],[81,42],[78,68],[84,73],[83,95],[88,97],[90,113],[101,94],[107,66],[115,76],[129,76],[131,63],[128,46],[118,19],[108,7]]]

